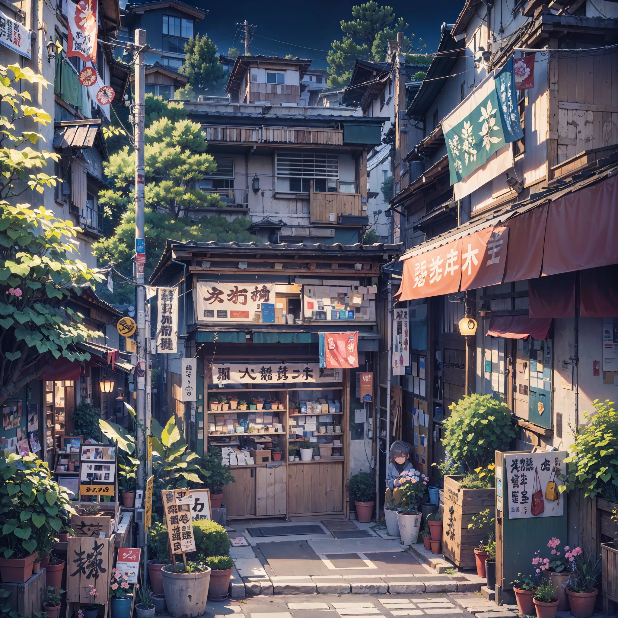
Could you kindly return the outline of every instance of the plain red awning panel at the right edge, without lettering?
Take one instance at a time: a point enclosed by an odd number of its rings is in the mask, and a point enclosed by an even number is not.
[[[549,204],[543,274],[618,263],[618,176]]]

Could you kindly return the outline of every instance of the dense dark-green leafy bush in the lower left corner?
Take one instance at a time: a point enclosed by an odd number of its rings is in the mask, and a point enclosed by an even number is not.
[[[75,512],[66,489],[36,455],[0,451],[0,475],[0,552],[17,558],[30,556],[38,547],[51,548],[63,520]]]

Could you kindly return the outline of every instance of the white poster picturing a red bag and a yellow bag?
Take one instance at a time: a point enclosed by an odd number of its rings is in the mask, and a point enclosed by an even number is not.
[[[557,477],[566,472],[565,457],[566,451],[504,455],[507,482],[504,505],[509,519],[564,514],[566,494],[558,491],[561,481]]]

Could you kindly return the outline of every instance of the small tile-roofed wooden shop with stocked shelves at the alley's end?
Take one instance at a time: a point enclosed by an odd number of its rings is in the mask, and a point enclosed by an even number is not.
[[[168,415],[183,417],[198,454],[217,447],[231,465],[228,518],[348,515],[350,473],[374,457],[374,410],[357,379],[375,370],[379,269],[398,253],[168,240],[151,285],[171,288],[187,272],[178,353],[166,357]],[[321,332],[324,356],[343,350],[339,368],[320,366]]]

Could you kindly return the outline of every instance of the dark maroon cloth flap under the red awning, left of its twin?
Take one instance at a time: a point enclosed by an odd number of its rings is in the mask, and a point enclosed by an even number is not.
[[[528,279],[531,318],[575,317],[575,273]]]

